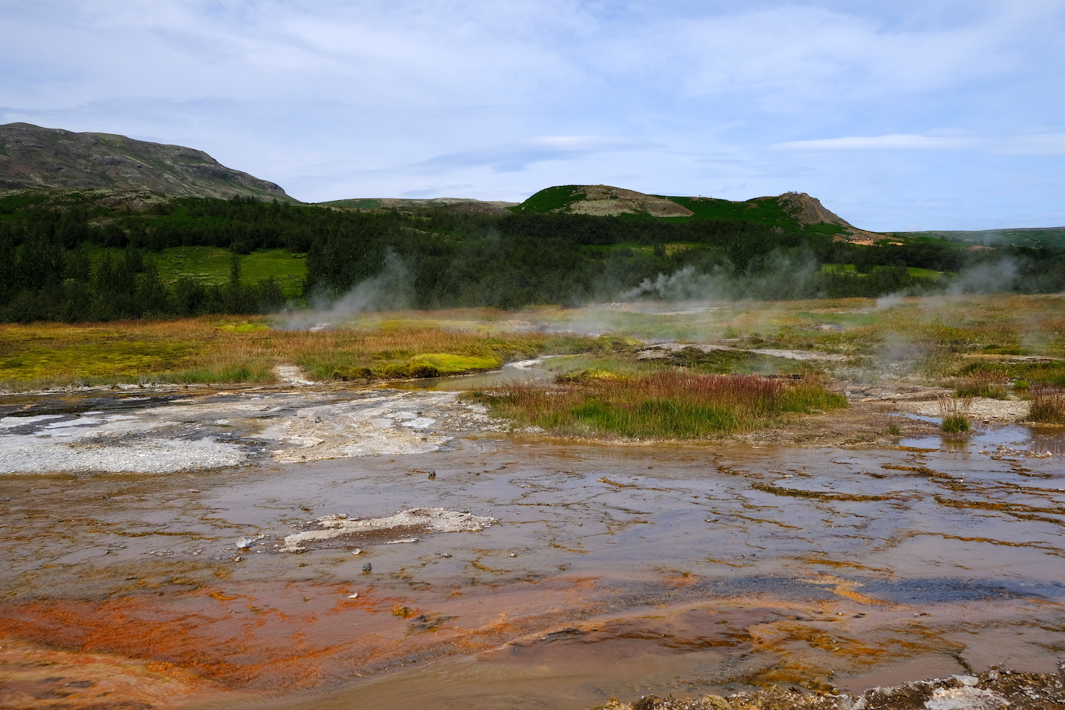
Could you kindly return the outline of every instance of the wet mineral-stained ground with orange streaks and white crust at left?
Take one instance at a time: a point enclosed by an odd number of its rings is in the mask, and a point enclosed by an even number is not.
[[[3,413],[4,707],[587,708],[1065,655],[1062,429],[574,444],[416,390]],[[494,522],[285,543],[423,508]]]

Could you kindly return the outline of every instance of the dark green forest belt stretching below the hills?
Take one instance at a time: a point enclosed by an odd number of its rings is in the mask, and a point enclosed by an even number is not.
[[[870,247],[817,227],[22,191],[0,198],[0,320],[277,310],[285,299],[276,283],[241,279],[242,254],[272,248],[306,252],[306,299],[359,286],[377,292],[366,300],[377,308],[1065,290],[1060,248],[972,251],[934,238]],[[228,283],[164,283],[153,254],[181,246],[230,250]]]

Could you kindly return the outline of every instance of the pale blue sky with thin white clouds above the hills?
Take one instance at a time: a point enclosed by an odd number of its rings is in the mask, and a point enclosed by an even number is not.
[[[304,201],[808,193],[1065,225],[1065,0],[0,0],[0,122],[191,146]]]

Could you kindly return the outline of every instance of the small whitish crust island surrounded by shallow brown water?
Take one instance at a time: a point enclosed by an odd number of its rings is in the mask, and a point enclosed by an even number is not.
[[[388,517],[349,519],[346,515],[325,515],[315,521],[322,530],[308,530],[285,536],[282,552],[302,552],[305,543],[325,542],[334,538],[360,532],[384,530],[417,530],[420,532],[479,532],[498,523],[494,517],[461,513],[446,508],[412,508]],[[412,542],[412,540],[410,540]],[[408,540],[394,541],[408,542]]]

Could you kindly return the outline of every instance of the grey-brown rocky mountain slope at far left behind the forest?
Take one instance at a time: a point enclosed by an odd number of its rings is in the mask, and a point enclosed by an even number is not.
[[[0,126],[0,189],[24,187],[134,188],[186,197],[247,195],[298,201],[273,182],[228,168],[195,148],[5,123]]]

